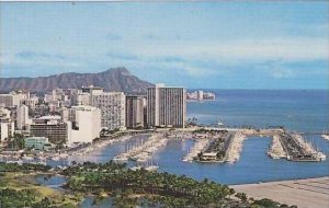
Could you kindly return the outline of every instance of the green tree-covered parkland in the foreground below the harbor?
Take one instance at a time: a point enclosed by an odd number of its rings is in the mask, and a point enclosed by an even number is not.
[[[270,199],[254,200],[227,185],[201,182],[167,172],[131,170],[126,164],[86,162],[65,170],[41,164],[0,163],[2,207],[79,207],[81,196],[100,203],[111,197],[113,207],[279,208],[288,207]],[[33,182],[33,175],[60,174],[67,177],[64,190],[53,190]]]

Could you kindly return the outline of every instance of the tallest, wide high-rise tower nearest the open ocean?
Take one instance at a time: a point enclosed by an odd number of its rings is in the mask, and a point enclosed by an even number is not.
[[[184,128],[186,89],[156,84],[147,89],[147,124]]]

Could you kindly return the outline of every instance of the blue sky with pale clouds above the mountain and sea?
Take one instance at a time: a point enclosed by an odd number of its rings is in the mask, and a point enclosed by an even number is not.
[[[1,77],[126,67],[150,82],[329,89],[329,2],[1,2]]]

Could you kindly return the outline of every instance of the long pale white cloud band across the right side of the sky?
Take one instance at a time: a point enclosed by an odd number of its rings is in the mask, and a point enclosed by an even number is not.
[[[136,50],[138,49],[138,50]],[[167,45],[144,45],[131,50],[145,57],[180,56],[185,58],[222,59],[224,61],[246,60],[313,60],[328,59],[328,39],[274,38],[242,39],[207,43],[168,43]]]

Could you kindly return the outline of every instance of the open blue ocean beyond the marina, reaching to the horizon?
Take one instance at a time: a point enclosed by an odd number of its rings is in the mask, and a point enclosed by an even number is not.
[[[285,126],[290,130],[329,130],[329,90],[205,90],[215,101],[189,102],[188,117],[201,124]]]

